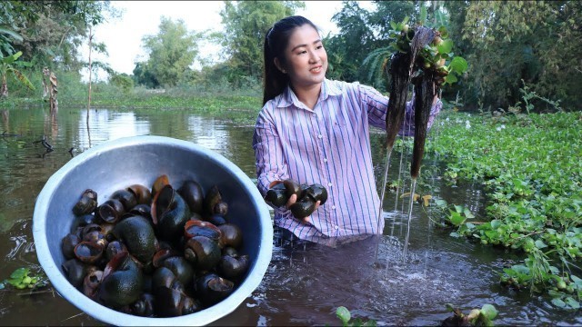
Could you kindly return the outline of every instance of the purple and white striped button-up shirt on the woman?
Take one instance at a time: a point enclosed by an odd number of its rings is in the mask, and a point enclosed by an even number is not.
[[[412,103],[406,104],[401,134],[414,134]],[[313,110],[288,86],[265,104],[253,135],[259,191],[265,196],[270,183],[291,178],[322,184],[328,193],[310,223],[296,219],[285,206],[274,208],[277,226],[313,242],[382,233],[369,126],[386,130],[387,105],[388,98],[370,86],[327,79]],[[429,126],[441,107],[438,101],[431,109]]]

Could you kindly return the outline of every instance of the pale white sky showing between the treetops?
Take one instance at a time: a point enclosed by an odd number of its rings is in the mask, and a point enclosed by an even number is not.
[[[296,12],[304,15],[319,26],[323,35],[336,34],[337,27],[331,17],[338,12],[341,1],[305,1],[306,9]],[[136,61],[145,61],[146,52],[142,48],[142,37],[156,35],[162,15],[174,21],[182,19],[189,31],[201,32],[207,29],[221,31],[220,10],[222,1],[112,1],[113,7],[121,12],[119,18],[111,18],[94,30],[94,42],[105,43],[108,56],[92,53],[92,60],[110,64],[118,73],[133,74]],[[371,2],[362,1],[361,6],[371,8]],[[201,57],[211,63],[220,61],[218,45],[199,45]],[[88,61],[88,45],[82,49],[84,60]],[[259,59],[260,60],[260,59]],[[199,66],[199,64],[197,64]],[[194,65],[196,68],[196,64]],[[96,73],[94,78],[100,79]],[[86,78],[86,72],[84,72]]]

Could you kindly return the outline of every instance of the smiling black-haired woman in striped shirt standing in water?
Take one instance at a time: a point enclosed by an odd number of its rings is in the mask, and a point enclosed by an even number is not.
[[[369,125],[386,129],[388,98],[366,85],[327,80],[326,50],[305,17],[273,25],[264,53],[264,106],[253,136],[258,189],[265,195],[290,178],[322,184],[328,193],[325,205],[316,203],[301,221],[288,210],[296,202],[291,196],[274,208],[276,226],[316,243],[382,233]],[[412,103],[401,131],[414,128]],[[435,97],[429,125],[441,106]]]

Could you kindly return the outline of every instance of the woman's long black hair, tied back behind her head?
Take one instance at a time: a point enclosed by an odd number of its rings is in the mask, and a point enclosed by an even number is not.
[[[276,22],[273,27],[269,28],[265,35],[265,74],[263,75],[263,105],[269,100],[274,99],[278,94],[283,93],[287,84],[289,84],[289,76],[283,74],[277,69],[275,65],[275,58],[279,59],[279,63],[285,65],[285,49],[289,42],[289,37],[296,29],[303,25],[311,25],[318,31],[317,26],[311,23],[304,16],[293,15],[281,19]]]

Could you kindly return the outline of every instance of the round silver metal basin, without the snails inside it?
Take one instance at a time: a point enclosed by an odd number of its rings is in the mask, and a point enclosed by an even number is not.
[[[85,189],[99,203],[134,183],[151,186],[166,174],[181,185],[194,179],[205,192],[217,185],[228,203],[227,219],[244,233],[242,253],[249,254],[246,278],[222,302],[184,316],[146,318],[109,309],[86,297],[66,280],[61,240],[73,223],[72,208]],[[114,325],[204,325],[233,312],[262,281],[271,261],[273,225],[256,185],[224,156],[186,141],[161,136],[136,136],[100,144],[77,155],[46,182],[35,203],[33,235],[38,261],[56,291],[95,319]]]

